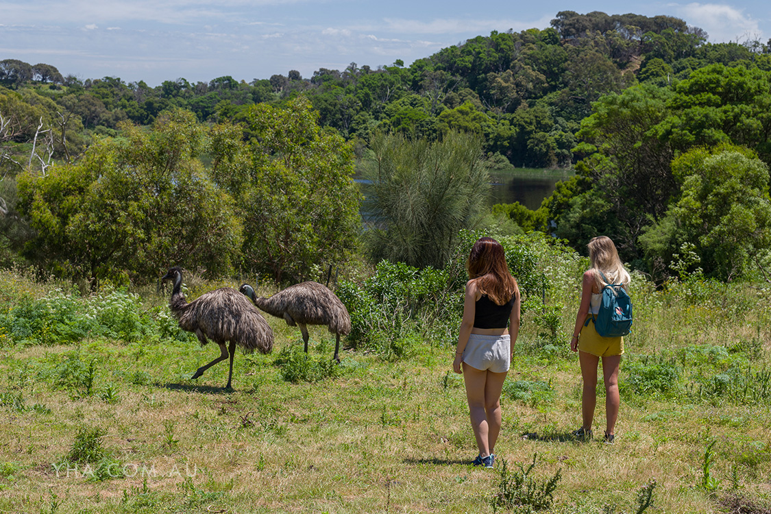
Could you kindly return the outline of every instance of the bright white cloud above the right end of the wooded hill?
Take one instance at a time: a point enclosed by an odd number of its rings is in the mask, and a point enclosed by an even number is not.
[[[707,31],[712,42],[742,42],[746,39],[763,38],[758,21],[746,15],[744,9],[726,4],[672,5],[689,25]]]

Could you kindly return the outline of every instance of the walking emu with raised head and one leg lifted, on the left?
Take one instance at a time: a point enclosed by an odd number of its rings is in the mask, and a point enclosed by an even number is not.
[[[193,378],[204,375],[204,371],[229,357],[231,370],[227,375],[226,387],[230,389],[236,346],[240,346],[245,353],[254,350],[269,353],[273,349],[273,331],[270,325],[244,295],[232,287],[221,287],[201,294],[188,304],[180,291],[182,270],[173,267],[161,280],[169,279],[174,281],[169,306],[177,317],[180,328],[196,334],[202,345],[211,339],[220,346],[221,355],[198,368]],[[228,341],[230,348],[225,345]]]

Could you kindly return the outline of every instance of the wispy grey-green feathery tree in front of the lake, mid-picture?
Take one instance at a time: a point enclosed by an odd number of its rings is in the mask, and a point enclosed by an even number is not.
[[[372,259],[443,267],[460,229],[470,228],[487,204],[482,139],[456,131],[436,141],[378,133],[369,147],[365,240]]]

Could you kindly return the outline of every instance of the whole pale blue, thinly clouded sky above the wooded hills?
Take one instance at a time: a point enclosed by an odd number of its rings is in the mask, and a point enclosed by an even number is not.
[[[150,86],[226,75],[249,82],[290,69],[309,77],[351,62],[409,65],[493,30],[546,29],[560,11],[676,16],[711,42],[771,38],[768,0],[0,0],[0,59]]]

